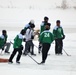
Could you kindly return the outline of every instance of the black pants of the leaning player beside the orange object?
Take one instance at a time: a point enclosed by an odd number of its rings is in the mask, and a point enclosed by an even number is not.
[[[16,55],[16,53],[18,52],[18,55],[17,55],[17,58],[16,58],[16,61],[19,61],[20,58],[21,58],[21,55],[22,55],[22,50],[19,49],[19,48],[15,48],[9,58],[9,61],[12,61],[14,56]]]

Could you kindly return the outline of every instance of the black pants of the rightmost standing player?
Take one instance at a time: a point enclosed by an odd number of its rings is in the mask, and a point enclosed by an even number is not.
[[[62,39],[55,40],[55,54],[62,54],[63,41]]]

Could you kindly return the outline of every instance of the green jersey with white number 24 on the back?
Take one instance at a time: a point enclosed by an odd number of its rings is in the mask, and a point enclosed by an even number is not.
[[[45,30],[40,34],[39,41],[41,43],[52,43],[54,40],[53,34],[49,30]]]

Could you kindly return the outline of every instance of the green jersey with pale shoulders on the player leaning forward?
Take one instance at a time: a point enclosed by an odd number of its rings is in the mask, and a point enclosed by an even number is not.
[[[22,45],[23,36],[18,34],[14,39],[13,48],[19,48]]]

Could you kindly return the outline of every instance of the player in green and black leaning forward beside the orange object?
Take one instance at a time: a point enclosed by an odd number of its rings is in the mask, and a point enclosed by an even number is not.
[[[13,63],[13,58],[16,55],[16,53],[18,52],[17,58],[16,58],[16,63],[20,64],[20,58],[22,55],[22,50],[23,50],[23,45],[22,45],[22,41],[23,41],[23,35],[25,35],[25,30],[22,29],[20,34],[18,34],[15,39],[14,39],[14,44],[13,44],[13,52],[9,58],[9,63]]]

